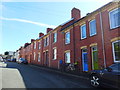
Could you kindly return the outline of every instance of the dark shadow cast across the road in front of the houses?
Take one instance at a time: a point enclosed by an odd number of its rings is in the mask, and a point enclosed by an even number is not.
[[[92,88],[87,80],[45,71],[30,65],[7,62],[6,68],[17,69],[26,88]]]

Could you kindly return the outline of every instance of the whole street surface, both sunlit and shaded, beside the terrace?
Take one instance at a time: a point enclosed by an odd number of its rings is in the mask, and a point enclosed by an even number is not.
[[[91,88],[87,79],[15,62],[3,63],[0,67],[0,77],[2,88]]]

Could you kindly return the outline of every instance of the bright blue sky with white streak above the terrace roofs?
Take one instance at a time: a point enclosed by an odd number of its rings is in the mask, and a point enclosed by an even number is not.
[[[46,28],[71,19],[76,7],[85,16],[111,0],[2,0],[0,2],[0,54],[16,51]]]

